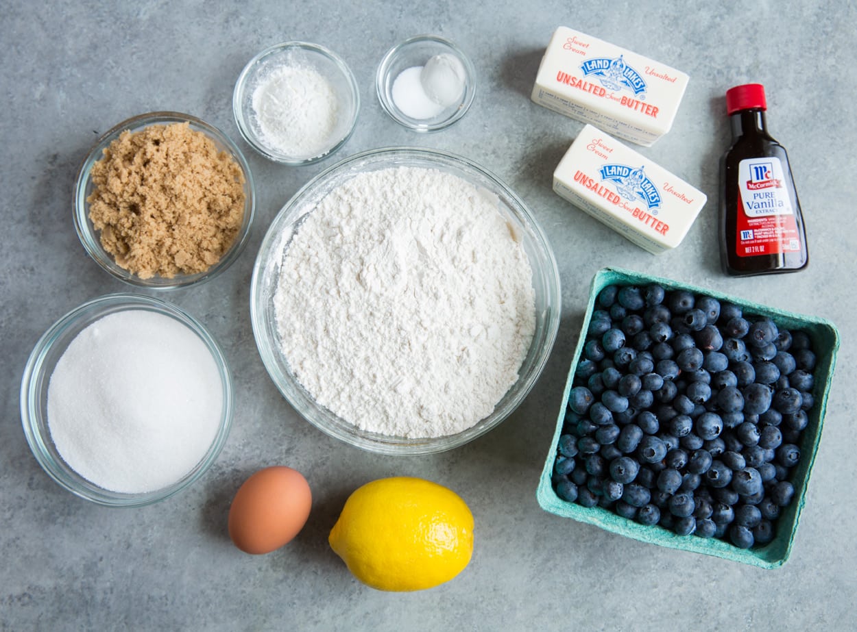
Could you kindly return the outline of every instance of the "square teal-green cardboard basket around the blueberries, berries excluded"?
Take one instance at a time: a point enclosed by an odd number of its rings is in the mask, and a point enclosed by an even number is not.
[[[578,365],[580,355],[586,342],[586,331],[589,330],[590,318],[594,310],[598,293],[609,285],[648,285],[660,283],[664,289],[686,289],[698,294],[713,296],[720,301],[732,302],[739,305],[747,314],[766,316],[777,325],[789,329],[800,329],[806,331],[812,340],[812,347],[816,353],[816,367],[813,372],[815,386],[813,396],[815,403],[807,411],[809,425],[803,431],[800,440],[800,462],[794,469],[794,499],[788,507],[784,508],[777,518],[774,540],[764,546],[753,546],[750,549],[740,549],[731,543],[715,538],[700,538],[696,535],[680,536],[659,526],[644,526],[622,516],[618,516],[610,510],[601,507],[586,508],[582,505],[569,503],[558,497],[551,484],[551,475],[554,468],[554,459],[557,454],[557,444],[562,432],[563,420],[566,415],[569,391],[572,390],[574,370]],[[735,296],[724,295],[709,289],[702,289],[686,283],[679,283],[667,278],[652,277],[640,272],[622,270],[619,268],[603,268],[596,272],[592,279],[589,303],[586,307],[584,324],[578,339],[577,349],[574,351],[571,369],[566,380],[566,390],[563,393],[562,405],[556,419],[554,438],[548,450],[542,469],[542,478],[539,481],[536,498],[543,510],[558,516],[573,518],[578,522],[596,525],[614,534],[624,535],[634,540],[648,542],[658,546],[704,553],[715,557],[723,557],[735,562],[752,564],[764,569],[773,569],[781,566],[788,559],[797,532],[800,512],[806,503],[806,486],[812,472],[812,463],[815,461],[818,443],[821,439],[821,430],[824,424],[824,412],[827,406],[827,397],[830,392],[830,382],[833,378],[833,369],[836,364],[836,352],[839,349],[839,333],[836,327],[826,319],[815,316],[805,316],[797,313],[786,312],[773,307],[765,307],[751,301],[746,301]]]

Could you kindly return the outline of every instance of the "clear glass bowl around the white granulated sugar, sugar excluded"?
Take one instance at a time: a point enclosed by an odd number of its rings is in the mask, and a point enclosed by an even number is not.
[[[109,314],[127,310],[146,310],[163,314],[177,320],[200,338],[206,349],[211,352],[213,361],[218,368],[220,383],[223,388],[223,406],[217,433],[206,453],[199,462],[182,478],[171,485],[152,492],[123,493],[113,492],[93,484],[78,474],[60,456],[57,446],[51,438],[47,417],[47,394],[51,375],[57,367],[69,344],[77,335]],[[93,405],[95,403],[93,402]],[[96,504],[114,507],[139,507],[153,504],[173,494],[180,492],[211,467],[223,448],[232,421],[233,389],[232,379],[227,367],[225,356],[205,328],[189,314],[184,313],[171,303],[145,295],[112,294],[101,296],[76,307],[39,338],[27,360],[27,366],[21,379],[21,422],[27,443],[33,450],[33,456],[45,472],[69,492],[80,498],[85,498]]]

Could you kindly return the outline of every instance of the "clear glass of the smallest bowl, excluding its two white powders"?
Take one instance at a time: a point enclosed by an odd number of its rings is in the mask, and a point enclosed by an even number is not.
[[[461,64],[459,70],[464,72],[464,90],[460,98],[451,104],[446,104],[434,116],[428,118],[410,116],[393,98],[396,79],[407,69],[425,66],[429,59],[437,55],[450,55],[458,60]],[[387,51],[378,66],[375,89],[378,92],[381,107],[393,118],[393,121],[415,132],[437,132],[459,121],[470,109],[470,104],[473,103],[473,97],[476,95],[476,69],[470,62],[470,58],[448,39],[436,35],[417,35],[417,37],[405,39],[404,42]],[[426,97],[422,95],[419,98],[422,100]]]

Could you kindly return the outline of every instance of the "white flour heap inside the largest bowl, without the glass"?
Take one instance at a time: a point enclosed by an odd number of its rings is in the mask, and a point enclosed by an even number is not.
[[[439,170],[362,173],[285,251],[282,349],[316,401],[364,430],[461,432],[518,379],[535,329],[531,277],[493,194]]]

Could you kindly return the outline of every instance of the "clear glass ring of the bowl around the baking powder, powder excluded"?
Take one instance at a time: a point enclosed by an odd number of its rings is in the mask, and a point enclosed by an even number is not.
[[[324,152],[321,152],[318,156],[313,156],[311,158],[295,158],[292,156],[288,156],[285,153],[280,153],[274,151],[272,148],[264,146],[261,142],[256,138],[256,135],[252,132],[252,129],[249,127],[249,123],[246,121],[243,116],[243,93],[244,88],[247,85],[250,77],[255,73],[255,71],[260,67],[260,63],[267,59],[267,57],[273,57],[273,55],[279,54],[280,52],[287,51],[290,49],[300,49],[303,51],[309,51],[312,53],[320,54],[322,57],[327,57],[330,61],[333,62],[333,65],[339,69],[339,72],[345,77],[345,82],[348,84],[349,90],[351,92],[351,99],[354,103],[354,108],[351,111],[350,121],[348,122],[348,131],[345,135],[337,140],[332,146],[325,149]],[[247,142],[247,144],[256,152],[259,152],[265,158],[269,160],[273,160],[279,164],[285,164],[293,167],[302,166],[304,164],[314,164],[319,162],[320,160],[324,160],[325,158],[329,158],[333,153],[339,151],[339,148],[351,138],[351,134],[354,133],[354,128],[357,127],[357,116],[360,114],[360,89],[357,86],[357,78],[354,76],[351,67],[345,63],[345,59],[339,56],[334,51],[330,50],[326,46],[321,44],[314,44],[312,42],[304,42],[297,39],[291,39],[289,41],[280,42],[279,44],[274,44],[268,46],[263,51],[260,51],[255,54],[255,56],[250,59],[248,63],[244,65],[241,73],[238,75],[238,78],[235,82],[235,87],[232,90],[232,116],[235,119],[236,126],[238,128],[238,132],[241,134],[241,137]]]

